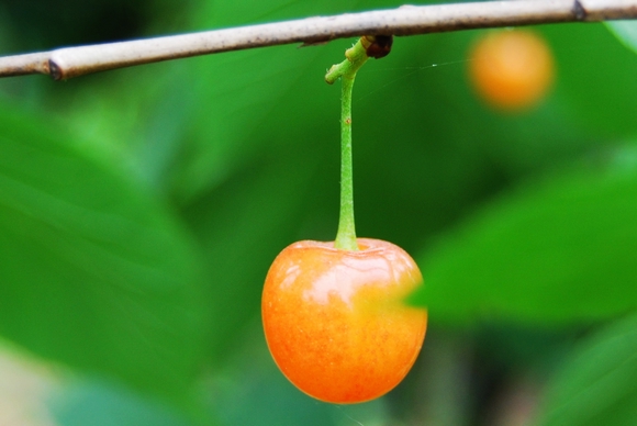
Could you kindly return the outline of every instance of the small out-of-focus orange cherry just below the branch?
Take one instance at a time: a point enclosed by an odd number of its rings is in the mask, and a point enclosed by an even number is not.
[[[490,32],[473,45],[470,59],[469,75],[478,93],[502,110],[535,105],[554,80],[550,49],[530,31]]]

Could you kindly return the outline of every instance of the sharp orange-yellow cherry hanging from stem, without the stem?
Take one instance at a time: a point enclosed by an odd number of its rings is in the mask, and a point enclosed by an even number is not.
[[[301,391],[325,402],[370,401],[413,366],[427,313],[404,304],[423,284],[400,247],[358,238],[359,250],[304,240],[275,259],[261,314],[275,362]]]

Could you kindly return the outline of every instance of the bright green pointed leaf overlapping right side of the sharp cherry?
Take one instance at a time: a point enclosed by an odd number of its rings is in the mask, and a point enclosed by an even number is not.
[[[528,183],[420,257],[432,318],[592,321],[637,306],[637,153]]]

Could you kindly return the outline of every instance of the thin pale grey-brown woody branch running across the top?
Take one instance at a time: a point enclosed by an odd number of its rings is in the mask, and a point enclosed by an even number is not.
[[[183,35],[0,57],[0,77],[90,72],[220,52],[304,45],[362,35],[416,35],[557,22],[637,19],[637,0],[516,0],[433,5],[317,16]]]

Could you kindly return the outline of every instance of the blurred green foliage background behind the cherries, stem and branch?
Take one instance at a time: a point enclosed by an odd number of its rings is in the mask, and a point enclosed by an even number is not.
[[[2,0],[0,54],[400,4]],[[429,329],[405,381],[354,406],[289,384],[259,318],[276,255],[335,236],[323,76],[353,41],[0,80],[0,418],[637,424],[635,26],[534,31],[556,80],[521,113],[471,87],[485,31],[399,37],[359,72],[358,234],[416,259]]]

